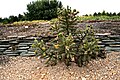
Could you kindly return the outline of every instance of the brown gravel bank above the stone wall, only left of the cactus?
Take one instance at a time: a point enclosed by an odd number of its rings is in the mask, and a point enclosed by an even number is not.
[[[8,36],[39,36],[41,34],[47,35],[49,33],[49,24],[38,24],[36,26],[19,27],[1,27],[0,26],[0,39],[7,39]]]

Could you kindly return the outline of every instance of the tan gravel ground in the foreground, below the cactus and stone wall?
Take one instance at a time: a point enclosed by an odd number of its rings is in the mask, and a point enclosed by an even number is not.
[[[0,57],[0,80],[120,80],[120,52],[84,67],[73,63],[68,68],[64,63],[45,67],[38,57]]]

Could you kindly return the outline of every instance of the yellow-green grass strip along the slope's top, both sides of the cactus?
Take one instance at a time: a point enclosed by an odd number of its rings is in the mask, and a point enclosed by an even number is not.
[[[120,16],[79,16],[77,18],[80,22],[84,21],[120,21]],[[9,24],[0,23],[0,26],[26,26],[26,25],[34,25],[37,23],[49,22],[53,23],[57,21],[57,19],[48,20],[33,20],[33,21],[19,21]]]

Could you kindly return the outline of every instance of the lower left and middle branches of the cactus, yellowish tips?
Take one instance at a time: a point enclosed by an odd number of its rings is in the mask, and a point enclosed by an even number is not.
[[[72,58],[74,57],[74,39],[71,34],[67,37],[62,33],[59,33],[57,37],[52,40],[49,44],[43,44],[43,41],[35,43],[32,45],[36,48],[35,53],[39,53],[41,57],[47,58],[46,63],[50,65],[55,65],[57,62],[62,61],[67,66],[70,65]]]

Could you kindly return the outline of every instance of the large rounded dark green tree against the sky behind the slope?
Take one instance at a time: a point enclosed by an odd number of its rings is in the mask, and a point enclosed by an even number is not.
[[[57,0],[37,0],[27,5],[25,13],[28,20],[50,20],[57,18],[57,9],[62,3]]]

